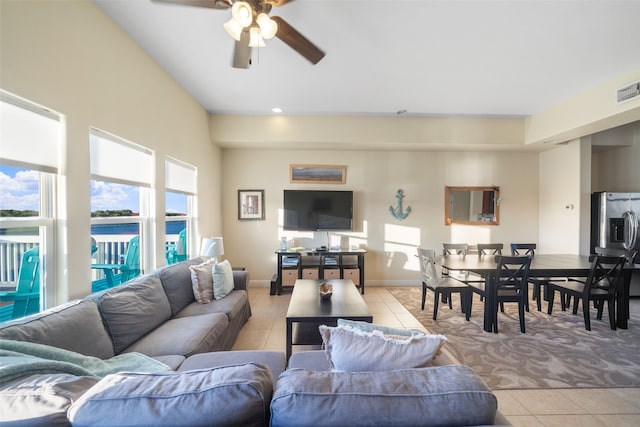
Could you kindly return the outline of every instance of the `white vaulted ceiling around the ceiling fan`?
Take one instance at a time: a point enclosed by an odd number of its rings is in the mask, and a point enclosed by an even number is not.
[[[281,40],[231,67],[229,10],[95,0],[216,114],[536,114],[640,68],[640,1],[295,0],[274,7],[326,52]]]

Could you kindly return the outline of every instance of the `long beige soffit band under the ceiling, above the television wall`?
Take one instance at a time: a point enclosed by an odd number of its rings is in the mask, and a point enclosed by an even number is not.
[[[211,139],[234,148],[512,150],[523,136],[520,118],[211,116]]]

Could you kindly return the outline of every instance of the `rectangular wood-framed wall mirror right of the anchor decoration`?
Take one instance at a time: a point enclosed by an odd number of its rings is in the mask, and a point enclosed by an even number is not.
[[[444,223],[500,224],[500,188],[444,187]]]

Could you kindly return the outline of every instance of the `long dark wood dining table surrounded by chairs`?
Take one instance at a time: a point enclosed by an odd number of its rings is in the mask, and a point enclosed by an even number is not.
[[[535,254],[529,267],[530,278],[565,279],[567,277],[587,277],[591,269],[593,255],[572,254]],[[485,282],[487,297],[484,298],[484,322],[483,329],[487,332],[494,330],[496,322],[495,299],[492,287],[495,286],[496,259],[495,256],[466,257],[442,257],[440,264],[447,270],[468,271],[476,273]],[[628,328],[629,319],[629,288],[631,285],[631,273],[638,265],[626,264],[623,270],[624,277],[622,289],[616,293],[616,326],[621,329]]]

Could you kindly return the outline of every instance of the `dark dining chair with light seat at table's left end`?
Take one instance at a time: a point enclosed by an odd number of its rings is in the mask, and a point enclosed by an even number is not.
[[[468,296],[469,287],[459,280],[451,277],[442,277],[438,274],[436,268],[436,251],[432,249],[418,248],[418,258],[420,262],[420,274],[422,275],[422,310],[427,297],[427,289],[433,291],[433,320],[438,317],[438,306],[440,305],[440,296],[443,296],[443,302],[448,301],[449,308],[452,308],[451,294],[460,294],[460,307],[465,317],[469,320],[470,310],[467,309],[467,302],[470,300]],[[446,297],[446,299],[444,298]]]

